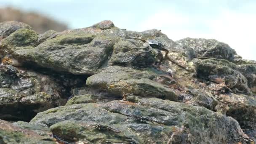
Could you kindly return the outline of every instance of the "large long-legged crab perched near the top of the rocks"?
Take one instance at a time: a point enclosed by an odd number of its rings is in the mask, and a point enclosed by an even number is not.
[[[134,49],[142,48],[142,49],[146,49],[147,51],[143,51],[141,53],[148,53],[148,52],[153,53],[155,55],[155,58],[159,59],[159,63],[157,64],[158,67],[161,65],[162,61],[167,58],[167,55],[168,55],[169,51],[167,49],[163,48],[162,43],[160,43],[157,40],[144,40],[144,39],[139,38],[139,37],[130,37],[130,36],[126,36],[125,38],[141,40],[142,42],[144,42],[143,46],[132,48],[131,51],[134,50]],[[156,49],[157,51],[154,51],[154,49]],[[165,58],[163,58],[163,55],[162,55],[161,51],[165,51]],[[141,54],[141,53],[137,53],[136,56]]]

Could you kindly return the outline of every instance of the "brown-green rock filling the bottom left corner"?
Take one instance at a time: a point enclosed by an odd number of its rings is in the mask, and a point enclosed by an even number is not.
[[[56,144],[48,136],[40,136],[35,131],[19,128],[11,123],[0,120],[1,144]]]

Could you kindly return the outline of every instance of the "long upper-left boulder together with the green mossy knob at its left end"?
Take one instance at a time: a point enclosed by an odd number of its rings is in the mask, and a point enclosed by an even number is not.
[[[29,32],[29,37],[25,32]],[[22,29],[5,38],[2,44],[9,50],[8,53],[5,52],[6,55],[11,54],[21,63],[33,63],[77,75],[91,75],[99,69],[109,59],[113,45],[119,39],[114,36],[95,37],[85,32],[73,32],[36,46],[34,43],[38,36],[30,33],[32,31]]]

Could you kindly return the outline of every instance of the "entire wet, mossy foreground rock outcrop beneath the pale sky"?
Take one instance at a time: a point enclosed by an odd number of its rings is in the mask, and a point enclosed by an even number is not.
[[[0,28],[10,29],[0,31],[0,143],[256,139],[256,63],[225,43],[173,41],[157,29],[127,31],[112,21],[41,35],[15,24]],[[15,137],[15,129],[26,132]]]

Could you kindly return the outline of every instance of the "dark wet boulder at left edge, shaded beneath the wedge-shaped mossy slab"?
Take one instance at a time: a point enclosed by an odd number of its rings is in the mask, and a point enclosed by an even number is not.
[[[0,71],[1,119],[29,120],[37,112],[65,104],[63,94],[66,90],[53,77],[33,71],[22,75],[30,77],[13,77]]]

